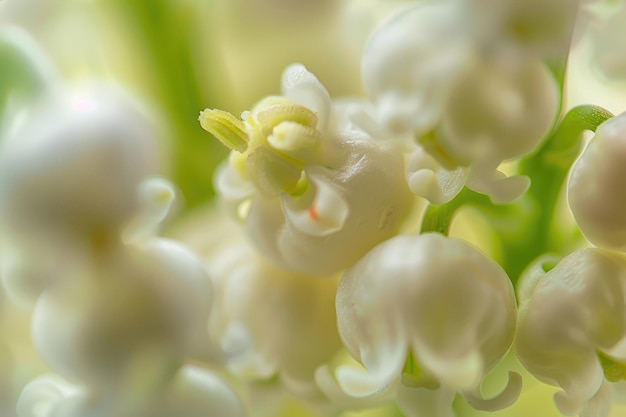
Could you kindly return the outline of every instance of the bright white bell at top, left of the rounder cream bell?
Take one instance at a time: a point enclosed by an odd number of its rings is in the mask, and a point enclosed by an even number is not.
[[[422,136],[441,119],[457,80],[471,65],[473,39],[453,1],[422,1],[381,26],[361,73],[382,126]]]

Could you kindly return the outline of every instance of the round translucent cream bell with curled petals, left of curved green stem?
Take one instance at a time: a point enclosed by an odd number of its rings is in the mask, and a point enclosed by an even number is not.
[[[459,80],[434,137],[423,145],[442,163],[469,166],[469,188],[495,202],[511,201],[526,191],[529,180],[497,169],[544,138],[557,115],[558,97],[554,78],[538,59],[482,61]]]

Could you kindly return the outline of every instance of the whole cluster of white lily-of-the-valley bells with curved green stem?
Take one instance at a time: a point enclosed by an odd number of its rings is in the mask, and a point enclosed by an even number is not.
[[[560,389],[555,412],[607,417],[626,386],[626,113],[566,97],[573,45],[624,14],[606,2],[415,1],[365,46],[365,97],[291,64],[280,95],[201,111],[230,154],[216,204],[170,238],[156,118],[0,32],[28,69],[0,75],[0,301],[43,368],[24,378],[0,343],[0,413],[462,417],[530,381]],[[468,206],[489,248],[452,230]]]

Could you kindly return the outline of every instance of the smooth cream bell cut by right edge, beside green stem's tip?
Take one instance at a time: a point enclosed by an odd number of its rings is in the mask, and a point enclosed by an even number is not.
[[[576,223],[594,245],[626,251],[626,113],[597,130],[572,167],[567,191]]]

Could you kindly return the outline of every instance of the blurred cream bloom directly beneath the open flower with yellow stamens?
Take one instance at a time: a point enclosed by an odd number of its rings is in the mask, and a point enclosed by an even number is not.
[[[215,210],[195,216],[189,228],[181,239],[203,258],[211,277],[209,328],[228,354],[228,369],[246,382],[278,377],[305,399],[318,393],[315,369],[341,348],[334,308],[338,277],[273,267],[238,224]]]

